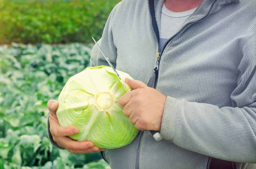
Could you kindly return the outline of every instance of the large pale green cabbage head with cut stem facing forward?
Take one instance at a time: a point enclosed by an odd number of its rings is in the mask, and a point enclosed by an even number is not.
[[[129,74],[117,71],[122,81]],[[131,87],[124,83],[128,91]],[[138,130],[124,116],[118,100],[126,93],[111,67],[87,67],[68,79],[58,102],[61,126],[76,126],[77,141],[91,141],[99,148],[114,149],[131,143]]]

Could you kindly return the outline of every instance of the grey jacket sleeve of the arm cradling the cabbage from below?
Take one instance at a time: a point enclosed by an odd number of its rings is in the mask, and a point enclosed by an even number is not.
[[[101,46],[101,49],[105,53],[105,55],[108,56],[110,62],[113,64],[114,67],[116,67],[116,47],[113,42],[112,30],[113,30],[113,22],[114,22],[113,20],[115,18],[114,14],[115,14],[116,9],[118,8],[119,4],[117,4],[114,7],[114,9],[111,11],[111,13],[108,17],[107,23],[104,27],[102,37],[97,42]],[[93,46],[92,52],[91,52],[90,67],[95,67],[95,66],[100,66],[100,65],[108,65],[108,62],[104,59],[104,56],[100,53],[99,48],[95,44]],[[52,134],[50,132],[49,113],[47,115],[47,133],[48,133],[48,138],[54,147],[59,148],[59,149],[64,149],[63,147],[60,147],[52,139]]]

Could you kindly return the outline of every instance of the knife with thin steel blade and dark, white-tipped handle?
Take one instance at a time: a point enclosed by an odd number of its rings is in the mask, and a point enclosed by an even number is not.
[[[116,74],[118,80],[121,82],[121,84],[123,85],[124,89],[126,90],[126,92],[128,92],[128,90],[125,88],[123,82],[121,81],[121,78],[119,76],[119,74],[117,73],[116,69],[113,67],[113,65],[111,64],[111,62],[109,61],[108,57],[105,56],[105,54],[102,52],[100,46],[98,45],[98,43],[96,42],[96,40],[92,37],[93,41],[95,42],[95,44],[98,46],[98,48],[100,49],[100,52],[102,53],[102,55],[104,56],[104,58],[107,60],[109,66],[113,69],[114,73]],[[154,76],[153,76],[154,77]],[[151,78],[148,82],[148,86],[150,87],[151,84],[153,84],[153,82],[155,81],[155,78]],[[160,132],[159,131],[153,131],[153,130],[150,130],[150,133],[152,134],[152,136],[155,138],[156,141],[159,141],[161,140],[163,137],[160,135]]]

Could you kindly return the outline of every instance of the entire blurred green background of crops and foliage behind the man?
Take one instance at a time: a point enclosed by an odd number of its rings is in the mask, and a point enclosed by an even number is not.
[[[0,0],[0,169],[110,168],[47,138],[47,101],[89,66],[120,0]]]

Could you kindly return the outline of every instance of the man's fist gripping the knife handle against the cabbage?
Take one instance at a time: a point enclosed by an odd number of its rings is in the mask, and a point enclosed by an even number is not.
[[[125,83],[134,90],[124,94],[119,100],[124,107],[124,115],[139,130],[159,131],[166,96],[141,81],[126,78]]]

